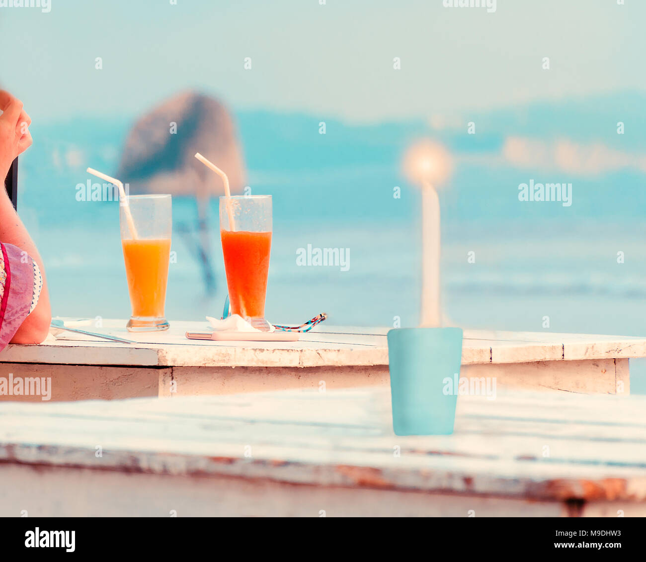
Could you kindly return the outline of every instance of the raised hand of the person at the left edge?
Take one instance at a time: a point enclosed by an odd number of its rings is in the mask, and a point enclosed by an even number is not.
[[[0,90],[0,180],[4,180],[11,163],[32,145],[29,125],[32,120],[23,109],[23,102],[9,92]]]

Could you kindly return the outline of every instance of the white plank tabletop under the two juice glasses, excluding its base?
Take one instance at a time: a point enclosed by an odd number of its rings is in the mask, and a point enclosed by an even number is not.
[[[138,341],[100,341],[67,332],[43,345],[10,345],[0,362],[147,367],[320,367],[388,365],[388,328],[320,325],[297,342],[198,341],[186,330],[207,330],[204,322],[172,321],[167,332],[129,334],[125,320],[103,319],[95,332]],[[646,356],[646,338],[464,330],[463,365],[537,361],[620,359]]]

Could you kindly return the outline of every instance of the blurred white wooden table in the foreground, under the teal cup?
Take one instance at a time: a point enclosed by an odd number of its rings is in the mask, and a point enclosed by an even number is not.
[[[0,404],[0,516],[646,515],[646,397],[460,396],[397,437],[388,389]]]

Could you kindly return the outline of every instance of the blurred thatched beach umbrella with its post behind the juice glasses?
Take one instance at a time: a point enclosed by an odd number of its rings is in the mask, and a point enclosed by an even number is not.
[[[222,180],[194,158],[196,152],[222,168],[233,193],[244,187],[245,170],[236,127],[222,103],[196,92],[183,92],[152,108],[130,129],[116,177],[130,193],[170,193],[191,197],[196,220],[174,229],[202,266],[207,296],[216,292],[209,201],[224,195]]]

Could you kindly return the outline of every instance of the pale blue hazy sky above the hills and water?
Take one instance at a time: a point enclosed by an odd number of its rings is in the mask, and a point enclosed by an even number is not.
[[[41,121],[130,116],[189,87],[234,109],[361,121],[646,90],[643,0],[498,0],[494,14],[442,0],[51,1],[49,14],[0,8],[0,79]]]

